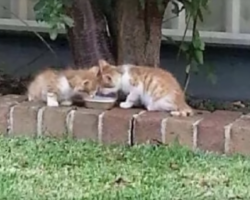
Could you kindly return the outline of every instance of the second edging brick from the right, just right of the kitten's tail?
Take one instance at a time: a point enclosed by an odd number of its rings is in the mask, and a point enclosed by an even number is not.
[[[225,126],[241,116],[231,111],[215,111],[207,115],[198,125],[198,147],[203,150],[224,153]]]

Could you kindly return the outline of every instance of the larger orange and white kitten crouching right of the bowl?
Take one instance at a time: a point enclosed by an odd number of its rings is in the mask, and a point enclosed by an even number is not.
[[[120,107],[128,109],[138,102],[148,111],[168,111],[174,116],[191,116],[192,108],[175,77],[161,68],[147,66],[113,66],[99,61],[99,91],[104,95],[122,91],[126,101]]]

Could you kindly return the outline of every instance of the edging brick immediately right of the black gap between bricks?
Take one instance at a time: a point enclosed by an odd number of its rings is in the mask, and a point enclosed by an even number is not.
[[[162,142],[162,120],[170,117],[167,112],[145,112],[135,119],[134,143]],[[164,131],[164,130],[163,130]]]

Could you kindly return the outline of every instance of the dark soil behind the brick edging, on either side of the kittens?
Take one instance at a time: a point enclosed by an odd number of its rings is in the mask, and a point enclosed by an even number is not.
[[[0,94],[17,94],[23,95],[26,93],[26,88],[31,81],[31,76],[13,77],[0,72]],[[199,99],[192,96],[187,96],[187,103],[194,109],[198,110],[230,110],[243,113],[250,113],[250,101],[220,101],[213,99]]]

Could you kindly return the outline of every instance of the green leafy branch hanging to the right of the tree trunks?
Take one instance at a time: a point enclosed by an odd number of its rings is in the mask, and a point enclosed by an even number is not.
[[[172,0],[174,5],[174,9],[172,10],[177,16],[182,10],[185,10],[186,13],[186,29],[183,35],[180,51],[183,51],[188,60],[188,65],[186,67],[186,80],[185,80],[185,90],[188,87],[190,72],[198,71],[198,66],[204,64],[204,56],[203,53],[205,51],[205,43],[202,41],[200,37],[199,30],[197,28],[198,21],[203,22],[203,12],[209,11],[208,2],[209,0]],[[182,7],[180,8],[179,2]],[[192,39],[191,42],[185,42],[185,36],[187,33],[187,29],[192,21]],[[179,52],[180,53],[180,52]],[[179,55],[178,53],[178,55]],[[212,83],[216,82],[216,76],[213,73],[213,68],[211,66],[206,65],[204,68],[206,70],[208,78],[212,81]]]

